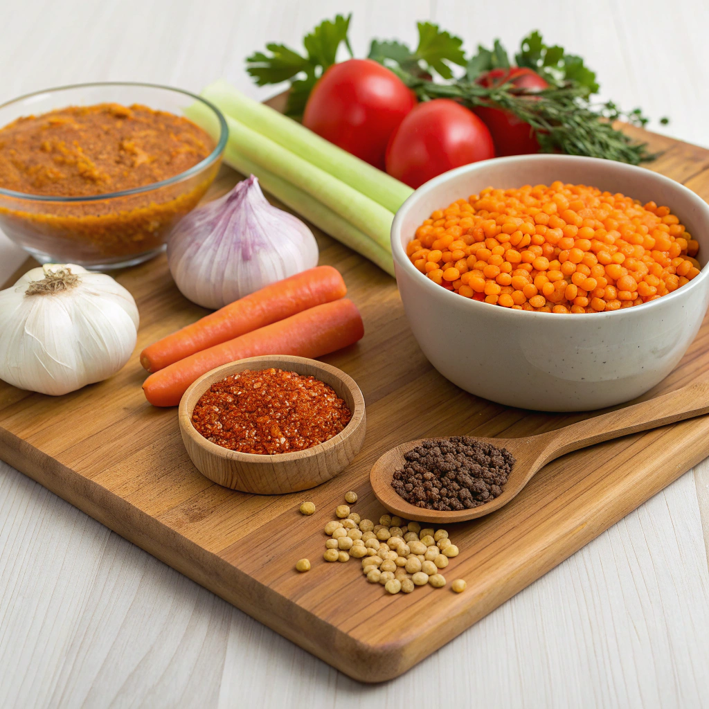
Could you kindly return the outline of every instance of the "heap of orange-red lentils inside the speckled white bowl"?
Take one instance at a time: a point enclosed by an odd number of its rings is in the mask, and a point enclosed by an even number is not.
[[[681,288],[699,273],[698,248],[668,207],[553,182],[459,199],[432,213],[406,252],[434,283],[466,298],[600,313]]]

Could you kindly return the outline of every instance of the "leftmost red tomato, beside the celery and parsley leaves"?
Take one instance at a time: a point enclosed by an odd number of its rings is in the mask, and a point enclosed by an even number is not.
[[[389,69],[350,59],[318,79],[303,125],[383,170],[386,144],[415,104],[413,91]]]

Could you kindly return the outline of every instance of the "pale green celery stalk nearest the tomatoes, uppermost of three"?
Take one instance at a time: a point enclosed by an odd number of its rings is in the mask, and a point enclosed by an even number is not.
[[[202,96],[223,113],[325,170],[391,212],[396,212],[413,192],[398,179],[320,138],[270,106],[250,99],[223,79],[207,86]]]

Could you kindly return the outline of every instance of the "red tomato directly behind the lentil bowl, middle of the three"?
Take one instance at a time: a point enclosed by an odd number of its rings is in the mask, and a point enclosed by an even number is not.
[[[434,99],[418,104],[391,136],[386,172],[416,188],[454,167],[490,157],[495,148],[480,118],[451,99]]]

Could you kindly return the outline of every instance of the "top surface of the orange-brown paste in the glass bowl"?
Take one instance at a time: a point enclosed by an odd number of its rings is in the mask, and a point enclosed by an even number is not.
[[[199,125],[173,113],[138,104],[69,106],[0,129],[0,186],[62,197],[106,194],[174,177],[212,150]]]

